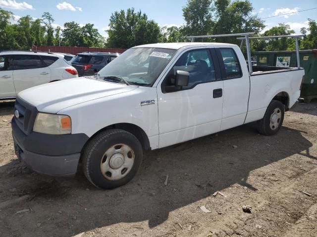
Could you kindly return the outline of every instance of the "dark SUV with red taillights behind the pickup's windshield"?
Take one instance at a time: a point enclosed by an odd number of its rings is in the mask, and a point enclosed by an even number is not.
[[[79,77],[93,76],[119,55],[119,53],[82,52],[77,54],[71,65],[77,69]]]

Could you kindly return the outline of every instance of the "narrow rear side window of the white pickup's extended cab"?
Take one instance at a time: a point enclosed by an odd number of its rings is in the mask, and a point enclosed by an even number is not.
[[[242,76],[239,61],[232,48],[220,48],[227,79],[240,78]]]

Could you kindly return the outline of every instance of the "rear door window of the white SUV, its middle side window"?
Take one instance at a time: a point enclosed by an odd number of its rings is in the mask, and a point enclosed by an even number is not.
[[[14,55],[14,70],[44,68],[46,65],[42,63],[38,55]]]

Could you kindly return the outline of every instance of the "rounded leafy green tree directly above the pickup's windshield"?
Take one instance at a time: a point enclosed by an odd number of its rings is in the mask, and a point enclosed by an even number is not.
[[[107,30],[107,46],[112,48],[130,48],[134,45],[156,43],[159,41],[159,25],[148,20],[141,10],[134,8],[115,11],[111,14],[109,30]]]

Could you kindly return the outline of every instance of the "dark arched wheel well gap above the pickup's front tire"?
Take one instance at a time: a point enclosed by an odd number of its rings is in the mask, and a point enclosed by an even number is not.
[[[116,123],[116,124],[106,126],[105,128],[100,129],[98,132],[96,132],[93,136],[91,136],[90,139],[92,139],[94,136],[96,136],[96,134],[100,133],[101,131],[105,131],[105,130],[111,129],[111,128],[122,129],[122,130],[125,130],[127,132],[132,133],[140,141],[143,150],[145,150],[145,151],[151,150],[150,141],[149,141],[149,138],[148,138],[147,134],[145,133],[145,131],[141,127],[139,127],[135,124],[132,124],[132,123]],[[88,143],[88,141],[87,141],[87,143]]]

